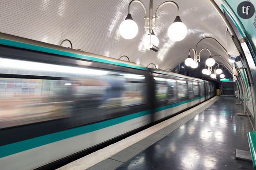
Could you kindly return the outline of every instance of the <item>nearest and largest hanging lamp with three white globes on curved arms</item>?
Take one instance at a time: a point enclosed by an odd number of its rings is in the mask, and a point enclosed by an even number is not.
[[[132,19],[132,15],[130,13],[130,7],[131,5],[136,2],[139,3],[143,9],[144,9],[144,19],[145,19],[145,31],[149,31],[149,33],[151,33],[151,35],[149,35],[149,37],[145,38],[144,45],[147,49],[151,49],[154,51],[158,51],[158,38],[154,35],[152,36],[152,32],[153,32],[153,0],[150,0],[149,3],[149,18],[147,17],[147,9],[145,7],[145,5],[140,1],[140,0],[132,0],[129,5],[128,5],[128,15],[125,18],[125,20],[120,24],[119,26],[119,32],[120,35],[125,38],[125,39],[132,39],[134,37],[136,37],[137,33],[138,33],[138,26],[136,24],[136,22],[133,21]],[[157,30],[157,19],[158,19],[158,11],[160,10],[160,8],[166,4],[172,4],[177,8],[177,15],[176,18],[174,20],[174,22],[169,26],[168,29],[168,36],[170,37],[171,40],[173,41],[181,41],[184,39],[184,37],[186,37],[187,35],[187,27],[185,26],[184,23],[181,22],[181,18],[179,16],[180,10],[179,10],[179,6],[173,2],[173,1],[166,1],[163,2],[161,5],[158,6],[156,12],[155,12],[155,31]],[[147,27],[147,23],[149,21],[149,26]],[[148,47],[148,41],[150,41],[150,48]],[[152,43],[153,42],[153,43]]]

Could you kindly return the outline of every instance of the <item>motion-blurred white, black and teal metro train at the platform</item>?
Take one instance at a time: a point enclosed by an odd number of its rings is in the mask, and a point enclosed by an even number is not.
[[[0,33],[0,169],[51,167],[213,96],[198,78]]]

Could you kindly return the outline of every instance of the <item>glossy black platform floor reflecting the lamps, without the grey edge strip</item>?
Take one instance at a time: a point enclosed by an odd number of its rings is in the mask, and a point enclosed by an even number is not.
[[[235,150],[249,151],[247,116],[243,106],[223,96],[166,137],[123,163],[118,170],[252,170],[235,159]]]

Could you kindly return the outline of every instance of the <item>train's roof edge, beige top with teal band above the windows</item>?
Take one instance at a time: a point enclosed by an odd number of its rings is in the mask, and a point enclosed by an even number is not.
[[[35,40],[23,38],[23,37],[17,37],[17,36],[13,36],[6,33],[0,33],[0,44],[16,47],[16,48],[24,48],[24,49],[29,49],[29,50],[39,51],[39,52],[46,52],[50,54],[69,56],[72,58],[85,59],[85,60],[90,60],[94,62],[108,63],[108,64],[118,65],[122,67],[130,67],[130,68],[135,68],[139,70],[151,70],[152,72],[155,72],[155,73],[171,75],[179,78],[192,79],[196,81],[203,81],[202,79],[199,79],[199,78],[193,78],[193,77],[185,76],[182,74],[168,72],[165,70],[150,69],[150,68],[138,65],[136,63],[126,62],[120,59],[113,59],[110,57],[105,57],[103,55],[96,55],[90,52],[83,52],[76,49],[66,48],[66,47],[62,47],[54,44],[48,44],[45,42],[35,41]]]

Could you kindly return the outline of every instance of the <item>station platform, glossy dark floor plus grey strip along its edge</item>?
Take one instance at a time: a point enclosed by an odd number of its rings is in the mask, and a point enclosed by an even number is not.
[[[208,102],[88,170],[252,170],[251,162],[235,159],[236,149],[249,151],[252,126],[237,115],[243,107],[228,96]],[[79,169],[81,161],[60,169]]]

